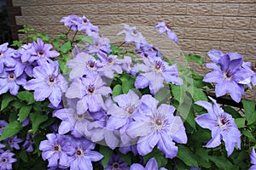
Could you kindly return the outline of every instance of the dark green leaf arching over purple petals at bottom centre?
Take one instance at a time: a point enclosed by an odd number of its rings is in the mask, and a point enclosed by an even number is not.
[[[154,147],[154,150],[152,150],[148,155],[143,156],[144,164],[146,164],[146,162],[152,157],[155,158],[158,167],[166,167],[168,161],[166,157],[156,147]]]

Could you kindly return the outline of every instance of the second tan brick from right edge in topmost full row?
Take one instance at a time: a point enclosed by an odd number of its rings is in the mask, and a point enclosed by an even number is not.
[[[212,15],[237,16],[239,4],[212,3]]]

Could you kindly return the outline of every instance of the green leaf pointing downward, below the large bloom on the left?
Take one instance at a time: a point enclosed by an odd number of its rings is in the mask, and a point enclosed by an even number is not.
[[[39,125],[42,122],[47,121],[48,116],[46,114],[42,114],[40,112],[35,112],[29,115],[31,121],[32,121],[32,131],[33,133],[36,133],[38,131]]]

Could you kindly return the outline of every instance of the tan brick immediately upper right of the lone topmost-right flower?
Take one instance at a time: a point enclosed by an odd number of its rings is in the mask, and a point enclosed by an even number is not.
[[[180,15],[180,16],[174,16],[173,23],[174,23],[174,26],[195,27],[197,26],[197,19],[193,16]]]

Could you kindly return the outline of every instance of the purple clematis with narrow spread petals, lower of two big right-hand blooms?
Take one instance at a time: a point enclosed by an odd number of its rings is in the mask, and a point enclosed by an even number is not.
[[[195,122],[201,127],[212,131],[212,139],[207,142],[207,148],[215,148],[224,140],[225,149],[230,156],[237,144],[241,149],[241,133],[236,126],[234,118],[230,114],[224,112],[217,104],[215,99],[212,99],[213,105],[207,101],[197,101],[196,105],[201,105],[207,109],[207,113],[197,116]]]

